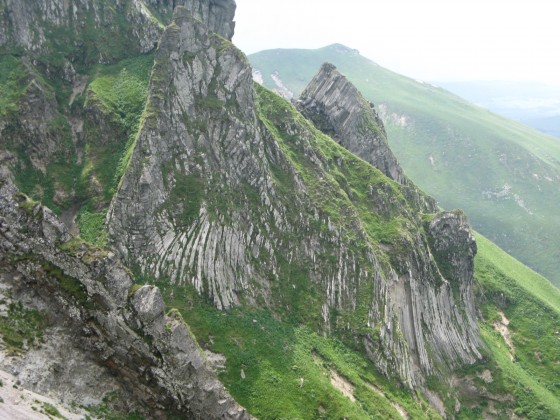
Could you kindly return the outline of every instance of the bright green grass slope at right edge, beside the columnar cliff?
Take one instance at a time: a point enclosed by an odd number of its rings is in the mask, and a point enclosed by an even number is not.
[[[516,414],[559,418],[560,291],[481,235],[477,243],[480,327],[494,371],[515,397]],[[511,347],[496,330],[502,314],[509,321]]]

